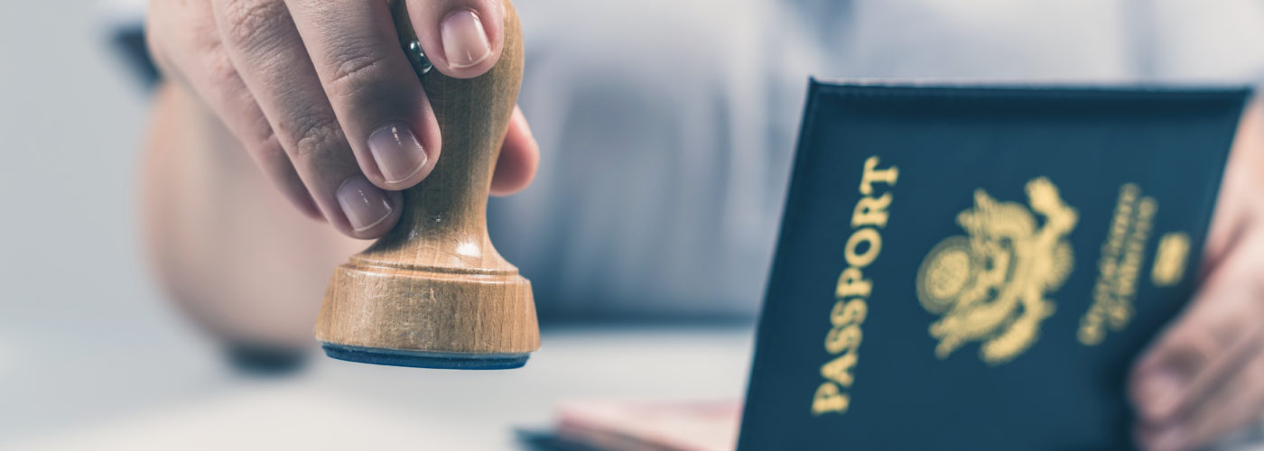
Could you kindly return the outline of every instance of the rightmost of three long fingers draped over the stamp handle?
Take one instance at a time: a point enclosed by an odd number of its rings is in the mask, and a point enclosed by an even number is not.
[[[387,3],[288,5],[360,171],[384,189],[421,182],[439,158],[439,124]]]

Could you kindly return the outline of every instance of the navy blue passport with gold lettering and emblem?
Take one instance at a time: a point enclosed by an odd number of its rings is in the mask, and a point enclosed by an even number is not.
[[[741,450],[1119,450],[1244,88],[811,82]]]

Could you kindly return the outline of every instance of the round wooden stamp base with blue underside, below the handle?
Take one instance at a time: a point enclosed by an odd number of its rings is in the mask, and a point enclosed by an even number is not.
[[[339,267],[316,339],[341,360],[418,368],[508,369],[540,349],[531,282],[509,268]]]

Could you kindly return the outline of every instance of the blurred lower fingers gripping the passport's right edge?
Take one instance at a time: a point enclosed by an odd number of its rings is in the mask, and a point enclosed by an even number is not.
[[[1239,384],[1235,389],[1243,395],[1249,394],[1246,385],[1261,385],[1253,373],[1264,371],[1255,369],[1264,365],[1256,363],[1264,354],[1264,328],[1258,327],[1264,299],[1256,277],[1258,268],[1264,268],[1261,236],[1255,232],[1235,246],[1189,308],[1138,361],[1129,389],[1141,422],[1139,440],[1159,448],[1186,443],[1179,448],[1206,431],[1240,427],[1255,418],[1210,412],[1230,407],[1232,395],[1221,394],[1226,384]],[[1234,399],[1232,404],[1241,402]]]

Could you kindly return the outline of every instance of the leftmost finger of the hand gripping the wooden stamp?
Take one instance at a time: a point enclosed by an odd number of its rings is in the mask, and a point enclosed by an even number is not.
[[[163,72],[197,92],[303,215],[322,217],[225,52],[210,3],[154,1],[149,14],[145,35]]]

